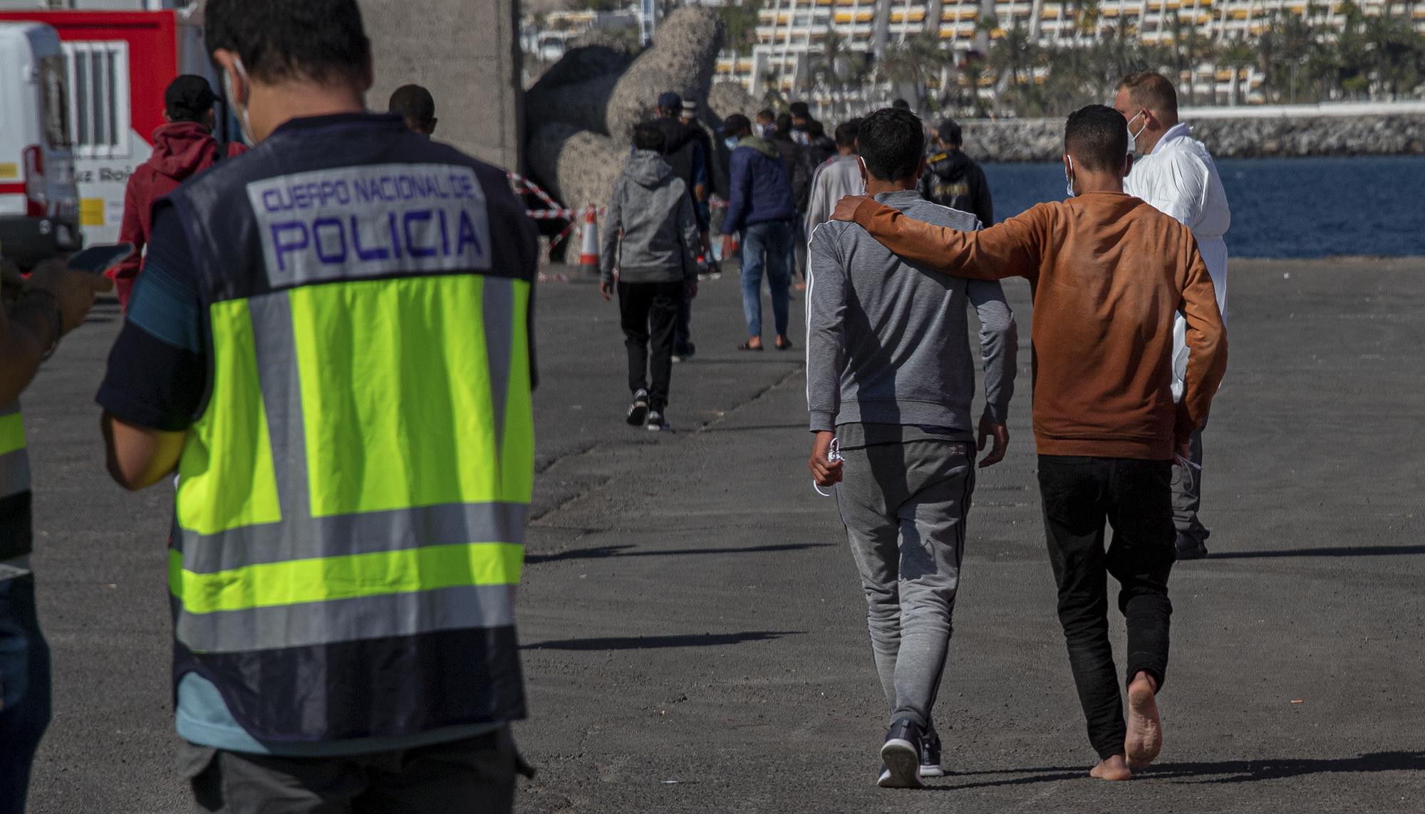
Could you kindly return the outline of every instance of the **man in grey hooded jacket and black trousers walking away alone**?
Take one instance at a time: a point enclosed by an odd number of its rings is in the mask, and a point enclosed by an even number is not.
[[[698,293],[698,222],[693,198],[663,159],[665,139],[650,124],[633,134],[634,152],[614,181],[604,215],[598,293],[614,295],[628,349],[628,424],[668,430],[673,332],[684,297]],[[650,359],[651,357],[651,359]],[[650,388],[650,374],[653,386]]]

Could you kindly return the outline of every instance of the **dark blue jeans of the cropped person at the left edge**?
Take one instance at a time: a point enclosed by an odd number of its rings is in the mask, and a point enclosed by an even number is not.
[[[50,646],[34,612],[34,576],[0,579],[0,814],[21,814],[30,766],[50,726]]]

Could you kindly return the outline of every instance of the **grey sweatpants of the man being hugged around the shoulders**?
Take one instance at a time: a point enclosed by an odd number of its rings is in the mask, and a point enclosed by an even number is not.
[[[975,491],[975,453],[933,440],[842,450],[841,519],[891,720],[931,729]]]

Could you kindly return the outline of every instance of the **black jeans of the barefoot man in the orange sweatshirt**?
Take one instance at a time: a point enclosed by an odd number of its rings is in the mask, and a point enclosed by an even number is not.
[[[1059,583],[1059,623],[1069,666],[1099,757],[1123,753],[1127,730],[1109,645],[1107,576],[1119,581],[1119,610],[1129,628],[1129,670],[1167,672],[1167,578],[1173,571],[1173,465],[1131,458],[1039,455],[1049,562]],[[1113,542],[1103,546],[1104,521]]]

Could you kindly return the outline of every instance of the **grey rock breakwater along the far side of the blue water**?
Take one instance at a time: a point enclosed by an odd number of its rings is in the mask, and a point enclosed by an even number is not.
[[[1217,158],[1425,155],[1425,115],[1263,115],[1183,118]],[[968,120],[976,161],[1057,161],[1062,118]]]

